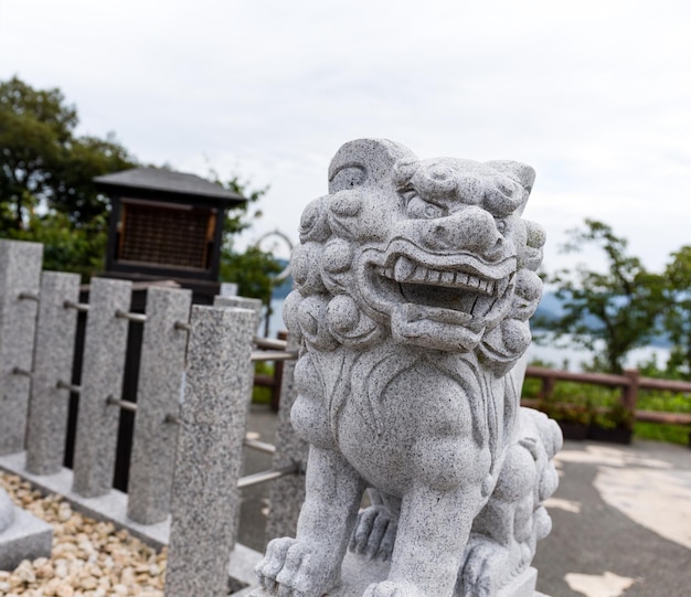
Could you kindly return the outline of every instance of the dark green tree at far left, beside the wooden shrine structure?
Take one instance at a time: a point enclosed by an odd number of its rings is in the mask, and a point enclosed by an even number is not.
[[[87,274],[100,268],[108,212],[93,179],[137,161],[111,134],[77,136],[77,124],[60,89],[0,83],[0,235],[43,242],[46,267]]]

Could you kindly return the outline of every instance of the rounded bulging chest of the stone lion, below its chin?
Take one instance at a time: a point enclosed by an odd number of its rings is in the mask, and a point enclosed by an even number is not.
[[[488,388],[469,375],[461,383],[425,359],[411,360],[378,366],[364,360],[341,370],[326,403],[333,447],[392,494],[405,493],[421,477],[439,486],[458,482],[472,468],[466,455],[478,447],[491,458],[488,438],[477,433],[487,428]]]

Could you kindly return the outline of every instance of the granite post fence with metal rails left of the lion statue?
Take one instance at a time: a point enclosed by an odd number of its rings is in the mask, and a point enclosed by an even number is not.
[[[76,509],[169,545],[166,595],[225,595],[228,574],[254,582],[259,554],[236,544],[240,488],[277,479],[267,535],[295,532],[306,446],[290,430],[294,361],[284,366],[277,447],[246,440],[254,361],[289,360],[256,339],[258,305],[148,289],[130,312],[130,281],[42,271],[42,245],[0,239],[0,468]],[[77,312],[86,312],[82,375],[72,382]],[[143,323],[136,402],[121,399],[128,322]],[[257,347],[273,350],[257,350]],[[70,394],[78,395],[73,469],[63,467]],[[120,413],[135,413],[127,493],[111,487]],[[274,452],[242,478],[244,448]]]

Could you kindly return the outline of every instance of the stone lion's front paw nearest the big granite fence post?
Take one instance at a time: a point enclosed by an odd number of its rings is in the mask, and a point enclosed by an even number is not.
[[[272,541],[255,568],[262,588],[278,597],[319,597],[337,584],[337,571],[323,553],[290,537]]]

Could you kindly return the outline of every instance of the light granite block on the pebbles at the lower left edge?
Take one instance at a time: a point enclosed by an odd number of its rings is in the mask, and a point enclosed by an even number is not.
[[[12,524],[0,530],[0,571],[13,571],[22,559],[51,557],[52,546],[53,527],[15,507]]]

